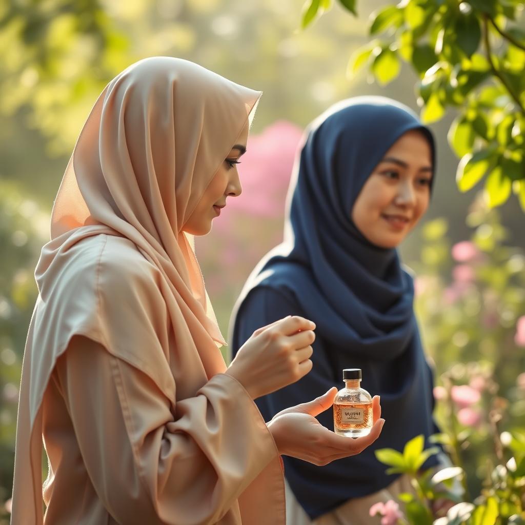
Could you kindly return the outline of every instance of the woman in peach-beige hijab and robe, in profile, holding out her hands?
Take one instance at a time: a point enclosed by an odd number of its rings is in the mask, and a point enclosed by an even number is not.
[[[314,417],[266,424],[253,400],[311,369],[314,325],[257,330],[226,368],[193,251],[241,188],[260,93],[185,60],[123,71],[93,107],[36,269],[18,409],[16,525],[285,523],[280,454],[359,453]],[[49,474],[41,488],[41,447]]]

